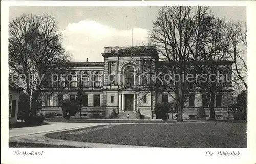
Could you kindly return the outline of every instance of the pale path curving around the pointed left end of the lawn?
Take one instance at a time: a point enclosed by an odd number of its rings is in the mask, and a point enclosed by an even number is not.
[[[14,128],[9,130],[9,142],[19,143],[38,143],[38,144],[49,144],[49,145],[65,145],[73,147],[142,147],[133,145],[115,145],[115,144],[102,144],[102,143],[87,143],[70,140],[58,140],[52,139],[45,136],[47,133],[67,131],[74,129],[81,129],[86,127],[98,126],[98,125],[110,125],[110,123],[63,123],[63,122],[48,122],[47,125]],[[122,123],[111,123],[122,124]]]

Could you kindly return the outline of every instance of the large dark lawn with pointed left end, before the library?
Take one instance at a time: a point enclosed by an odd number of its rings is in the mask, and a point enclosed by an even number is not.
[[[46,134],[55,139],[169,148],[246,148],[244,122],[126,124]]]

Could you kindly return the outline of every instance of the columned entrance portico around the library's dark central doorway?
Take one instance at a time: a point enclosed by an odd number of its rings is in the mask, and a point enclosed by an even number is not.
[[[119,94],[119,110],[136,111],[136,93],[135,92],[121,92]]]

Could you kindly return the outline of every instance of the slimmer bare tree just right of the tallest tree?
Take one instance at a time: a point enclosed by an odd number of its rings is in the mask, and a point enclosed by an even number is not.
[[[225,20],[211,18],[211,26],[207,35],[203,39],[203,47],[199,53],[204,58],[204,65],[201,73],[207,79],[198,81],[199,90],[205,94],[207,104],[210,108],[210,120],[215,120],[215,99],[216,93],[224,91],[231,82],[231,65],[228,61],[230,36]]]

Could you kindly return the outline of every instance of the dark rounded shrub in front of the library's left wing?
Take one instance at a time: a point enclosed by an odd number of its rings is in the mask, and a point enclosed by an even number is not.
[[[79,103],[77,100],[70,101],[65,99],[61,102],[61,108],[64,119],[69,120],[71,116],[75,116],[79,111]]]

